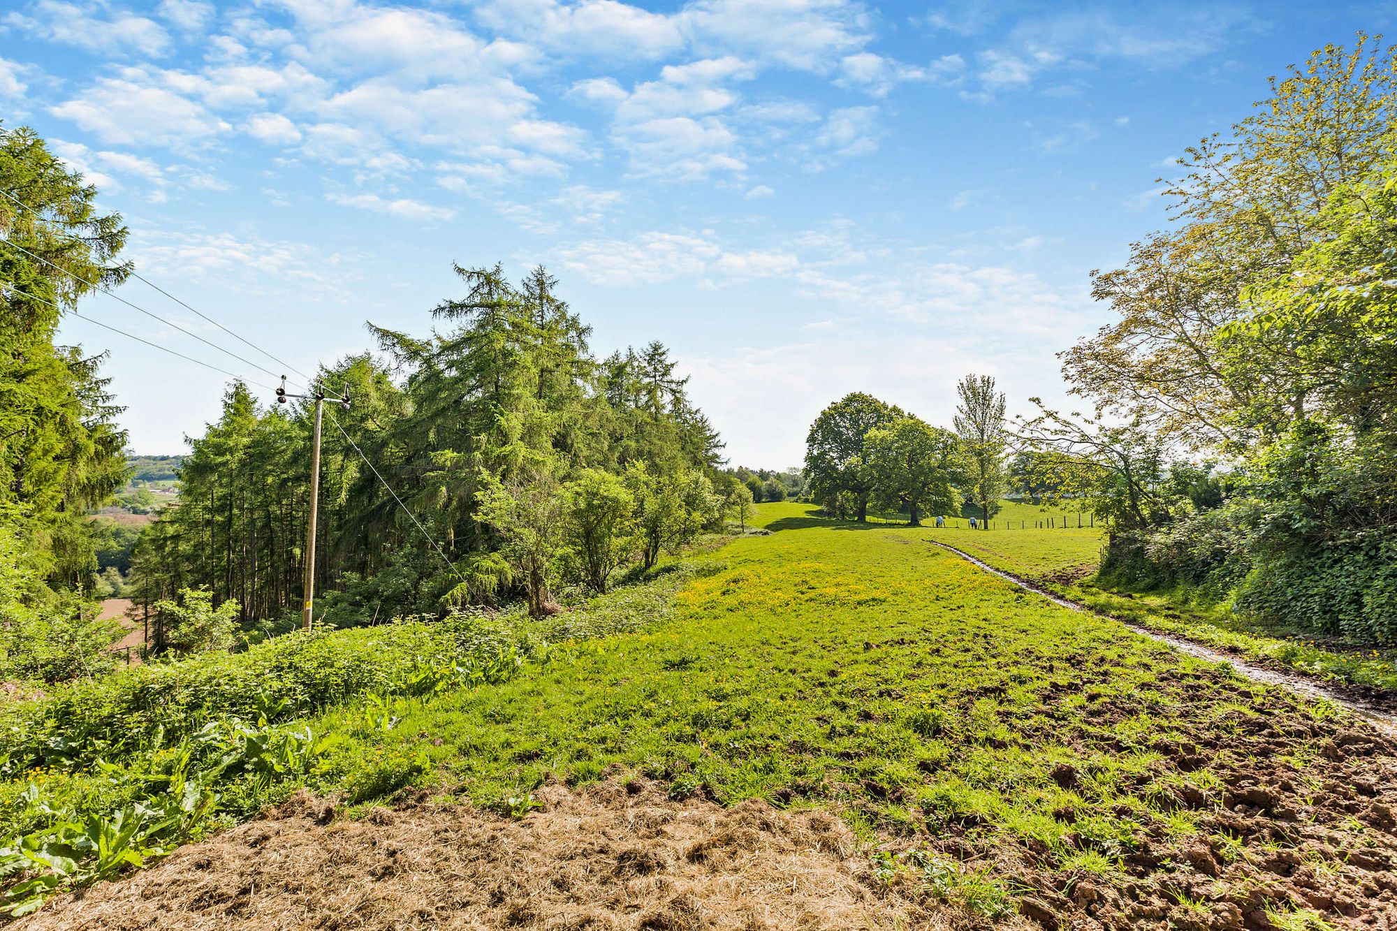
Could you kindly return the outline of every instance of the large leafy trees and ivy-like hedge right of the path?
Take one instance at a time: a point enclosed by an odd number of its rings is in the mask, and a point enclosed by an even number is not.
[[[1235,138],[1187,151],[1185,222],[1095,275],[1120,320],[1065,370],[1097,417],[1021,433],[1111,527],[1104,579],[1393,643],[1397,50],[1359,35],[1271,89]],[[1171,445],[1231,468],[1169,463]]]

